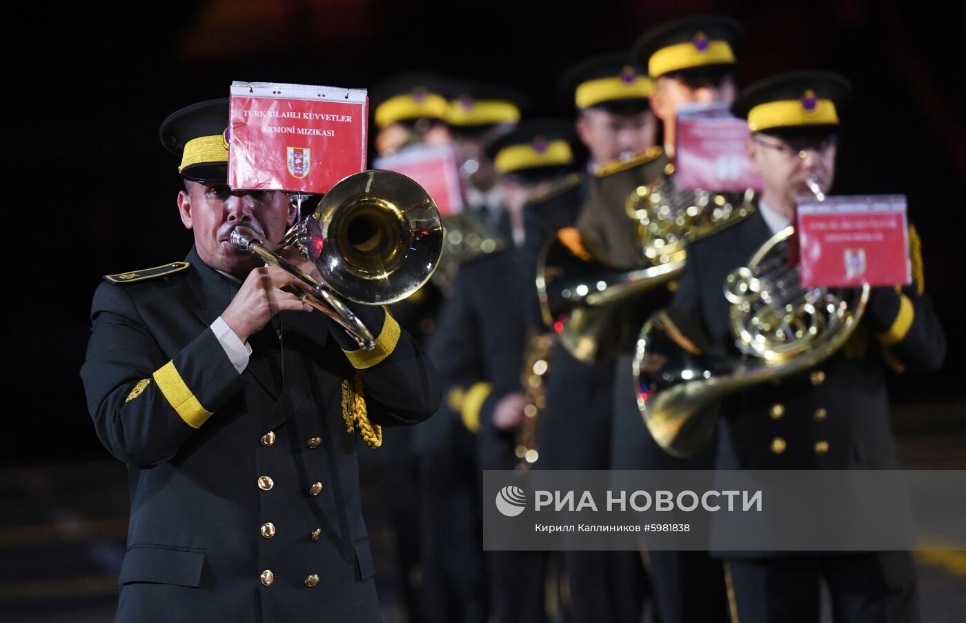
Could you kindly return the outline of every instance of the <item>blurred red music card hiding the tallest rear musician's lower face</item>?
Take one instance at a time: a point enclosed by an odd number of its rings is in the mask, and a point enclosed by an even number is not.
[[[682,106],[677,111],[674,172],[679,188],[744,191],[761,189],[745,142],[748,122],[728,112],[726,104]]]

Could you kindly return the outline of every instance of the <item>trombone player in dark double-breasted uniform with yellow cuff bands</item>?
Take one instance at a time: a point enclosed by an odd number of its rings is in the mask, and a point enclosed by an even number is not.
[[[164,121],[194,246],[94,297],[81,377],[131,495],[117,620],[378,621],[355,431],[378,446],[380,425],[428,417],[436,374],[382,307],[352,306],[376,336],[359,350],[233,246],[236,228],[280,241],[296,209],[226,184],[227,125],[227,99]]]

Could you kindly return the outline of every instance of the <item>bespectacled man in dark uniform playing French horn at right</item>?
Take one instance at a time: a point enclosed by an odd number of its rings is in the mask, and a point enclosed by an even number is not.
[[[728,272],[746,266],[763,242],[794,222],[796,202],[810,196],[810,184],[822,193],[832,186],[838,110],[849,93],[848,81],[837,74],[801,71],[759,82],[732,104],[731,112],[747,119],[753,132],[748,154],[763,180],[757,210],[689,246],[672,303],[703,329],[709,352],[736,351],[723,295]],[[912,228],[909,238],[914,282],[873,288],[865,316],[838,352],[777,384],[725,398],[718,468],[898,467],[886,371],[934,371],[946,349],[943,329],[923,294],[922,259]],[[837,623],[918,620],[908,552],[759,552],[725,559],[725,580],[733,621],[816,621],[820,580],[829,587]]]

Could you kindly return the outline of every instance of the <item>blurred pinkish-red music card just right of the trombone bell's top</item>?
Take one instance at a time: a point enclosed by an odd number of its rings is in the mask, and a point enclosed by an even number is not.
[[[447,145],[440,147],[413,145],[391,156],[376,158],[373,166],[412,178],[433,198],[441,216],[449,216],[463,210],[456,154],[453,153],[453,148]]]

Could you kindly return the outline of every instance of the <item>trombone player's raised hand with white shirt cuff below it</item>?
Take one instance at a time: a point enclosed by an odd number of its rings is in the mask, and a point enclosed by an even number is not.
[[[298,283],[298,279],[278,267],[254,269],[241,284],[239,293],[221,312],[221,319],[244,342],[282,310],[312,311],[312,307],[298,297],[281,290],[282,286],[294,283]]]

